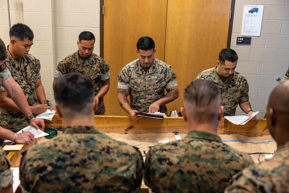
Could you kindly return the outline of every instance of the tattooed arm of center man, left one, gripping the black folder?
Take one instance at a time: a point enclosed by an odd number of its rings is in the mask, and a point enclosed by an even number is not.
[[[127,112],[134,121],[139,120],[142,117],[136,116],[135,113],[138,111],[131,109],[129,101],[127,100],[128,95],[129,89],[117,89],[117,100],[118,103],[121,105],[121,108],[123,108],[123,110],[125,110],[125,112]]]

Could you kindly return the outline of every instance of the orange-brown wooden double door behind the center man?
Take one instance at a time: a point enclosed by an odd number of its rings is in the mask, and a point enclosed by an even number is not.
[[[155,58],[177,76],[179,98],[168,111],[183,106],[183,90],[203,70],[212,68],[227,47],[231,0],[104,0],[103,58],[110,65],[105,115],[127,115],[117,101],[119,71],[138,58],[142,36],[155,41]]]

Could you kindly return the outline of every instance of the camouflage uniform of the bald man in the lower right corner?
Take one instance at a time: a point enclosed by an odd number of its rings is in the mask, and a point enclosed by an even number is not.
[[[268,161],[234,175],[225,192],[289,192],[289,141]]]

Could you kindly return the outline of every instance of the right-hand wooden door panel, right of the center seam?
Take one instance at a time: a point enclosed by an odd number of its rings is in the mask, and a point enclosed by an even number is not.
[[[177,75],[179,98],[168,111],[183,106],[183,90],[203,70],[216,65],[226,48],[231,0],[168,0],[164,62]]]

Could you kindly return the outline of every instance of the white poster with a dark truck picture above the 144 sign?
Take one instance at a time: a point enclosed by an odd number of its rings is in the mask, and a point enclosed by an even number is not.
[[[241,36],[260,36],[264,5],[245,5]]]

